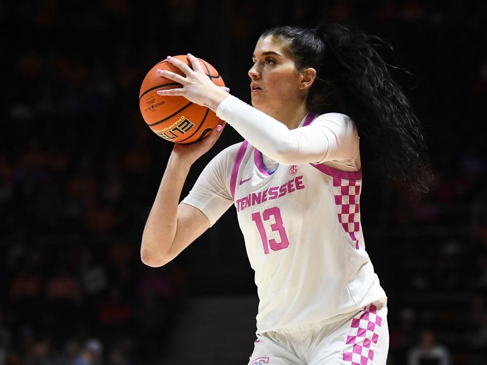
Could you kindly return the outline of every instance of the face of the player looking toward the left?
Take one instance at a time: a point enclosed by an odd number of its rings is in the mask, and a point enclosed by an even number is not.
[[[304,95],[299,88],[302,76],[281,42],[272,36],[259,39],[252,60],[254,65],[249,70],[252,105],[276,115],[302,102]]]

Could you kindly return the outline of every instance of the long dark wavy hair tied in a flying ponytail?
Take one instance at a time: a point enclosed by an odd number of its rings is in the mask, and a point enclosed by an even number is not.
[[[269,35],[283,42],[298,70],[316,69],[309,111],[350,116],[389,178],[413,191],[428,191],[431,172],[420,123],[374,46],[387,43],[332,21],[315,29],[274,27],[260,38]]]

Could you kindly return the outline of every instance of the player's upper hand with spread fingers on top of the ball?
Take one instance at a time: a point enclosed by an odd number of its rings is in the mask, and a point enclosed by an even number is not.
[[[185,76],[175,74],[168,70],[157,69],[156,72],[166,79],[181,84],[183,87],[178,89],[158,90],[159,95],[184,96],[191,102],[206,106],[216,111],[218,105],[228,96],[230,89],[215,85],[204,73],[203,67],[196,57],[188,53],[188,59],[193,66],[189,67],[183,61],[167,56],[167,62],[178,67]]]

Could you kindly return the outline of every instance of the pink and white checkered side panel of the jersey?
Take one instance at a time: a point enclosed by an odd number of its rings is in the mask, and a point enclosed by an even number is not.
[[[338,208],[338,222],[349,234],[356,249],[359,249],[360,231],[360,188],[362,180],[347,180],[333,177],[335,204]]]

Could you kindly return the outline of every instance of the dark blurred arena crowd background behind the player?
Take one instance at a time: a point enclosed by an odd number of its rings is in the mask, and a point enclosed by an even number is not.
[[[422,197],[364,162],[388,364],[487,363],[485,1],[18,0],[0,4],[0,365],[247,363],[257,298],[234,208],[168,265],[141,262],[172,143],[138,92],[154,64],[191,52],[250,102],[260,32],[325,15],[393,45],[378,49],[411,72],[392,71],[430,149]],[[183,196],[240,140],[225,128]]]

